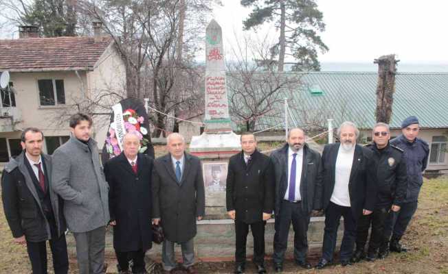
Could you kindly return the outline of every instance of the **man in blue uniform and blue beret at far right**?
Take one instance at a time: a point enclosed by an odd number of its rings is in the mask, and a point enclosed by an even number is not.
[[[402,135],[390,140],[390,144],[403,149],[407,167],[407,193],[399,212],[392,212],[385,221],[383,245],[390,247],[392,252],[406,252],[400,245],[401,236],[405,233],[407,225],[417,210],[418,193],[423,184],[423,171],[425,171],[429,145],[421,138],[417,138],[420,127],[416,116],[407,117],[401,123]],[[392,238],[390,235],[392,234]],[[390,245],[389,245],[390,240]]]

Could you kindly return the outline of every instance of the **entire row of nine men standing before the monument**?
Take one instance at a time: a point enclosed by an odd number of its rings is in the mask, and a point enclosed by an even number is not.
[[[72,116],[69,141],[51,157],[42,153],[43,133],[24,129],[23,152],[5,166],[1,180],[5,216],[14,241],[27,246],[33,273],[47,273],[47,241],[54,272],[68,272],[67,228],[76,240],[79,273],[105,273],[107,225],[113,227],[120,273],[146,273],[144,254],[151,248],[151,225],[164,229],[165,273],[177,267],[175,244],[181,245],[183,269],[196,273],[193,240],[197,221],[205,214],[199,158],[186,153],[183,136],[170,134],[168,153],[153,160],[139,153],[139,136],[129,132],[122,153],[105,162],[103,169],[91,125],[85,114]],[[340,142],[326,145],[322,157],[306,144],[299,128],[291,129],[287,144],[270,156],[257,150],[254,134],[241,134],[242,151],[229,160],[226,187],[227,213],[236,232],[235,273],[245,271],[249,227],[254,236],[253,262],[258,273],[266,272],[265,225],[273,212],[276,272],[283,269],[291,223],[295,263],[311,268],[306,260],[307,232],[311,216],[322,211],[324,243],[317,269],[333,262],[341,216],[342,265],[405,251],[399,241],[417,208],[429,148],[417,138],[416,117],[403,121],[402,128],[403,135],[390,141],[389,126],[377,123],[372,144],[362,147],[357,145],[356,125],[344,122],[337,131]]]

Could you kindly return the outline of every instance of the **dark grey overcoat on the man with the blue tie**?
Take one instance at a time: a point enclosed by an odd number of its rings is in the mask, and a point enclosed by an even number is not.
[[[187,242],[197,233],[197,216],[205,214],[201,160],[185,153],[181,184],[177,184],[170,153],[154,160],[153,218],[161,219],[165,237]]]

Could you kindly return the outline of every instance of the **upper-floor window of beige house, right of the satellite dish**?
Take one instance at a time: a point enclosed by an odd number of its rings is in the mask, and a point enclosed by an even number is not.
[[[39,101],[41,105],[65,104],[64,80],[38,79]]]

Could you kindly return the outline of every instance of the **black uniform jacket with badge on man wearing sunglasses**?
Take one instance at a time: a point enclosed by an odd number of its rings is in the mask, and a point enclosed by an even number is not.
[[[382,150],[374,143],[368,145],[377,166],[377,208],[392,204],[401,206],[406,199],[407,169],[403,150],[389,145]]]

